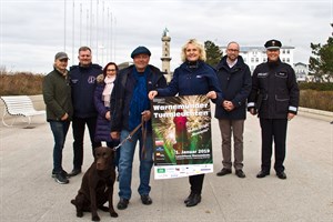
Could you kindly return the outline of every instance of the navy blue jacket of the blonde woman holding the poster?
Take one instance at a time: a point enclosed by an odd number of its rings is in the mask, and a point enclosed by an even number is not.
[[[209,91],[215,91],[218,99],[212,100],[215,103],[222,102],[222,91],[215,70],[203,61],[198,63],[196,68],[189,68],[188,63],[182,63],[174,70],[173,78],[164,89],[158,89],[159,97],[195,95],[206,94]]]

